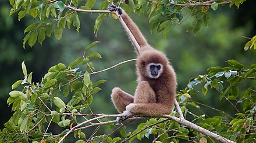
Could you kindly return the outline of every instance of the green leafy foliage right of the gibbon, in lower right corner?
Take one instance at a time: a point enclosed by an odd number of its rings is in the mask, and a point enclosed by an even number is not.
[[[227,63],[228,67],[211,67],[208,69],[208,74],[191,79],[187,88],[182,91],[193,96],[198,92],[195,87],[200,85],[202,86],[201,93],[204,96],[207,95],[210,87],[218,91],[219,100],[225,98],[234,108],[236,116],[233,117],[223,110],[215,109],[222,116],[207,119],[200,116],[195,120],[205,129],[216,130],[219,134],[226,135],[236,142],[254,142],[256,65],[252,64],[250,68],[246,68],[236,60],[228,60]],[[248,85],[247,87],[243,87],[245,83]],[[187,104],[200,108],[200,105],[193,101],[187,102]]]

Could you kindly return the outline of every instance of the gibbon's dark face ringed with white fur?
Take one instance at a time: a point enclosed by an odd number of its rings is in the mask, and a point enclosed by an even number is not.
[[[147,74],[149,78],[157,79],[163,72],[163,65],[159,63],[150,63],[147,65]]]

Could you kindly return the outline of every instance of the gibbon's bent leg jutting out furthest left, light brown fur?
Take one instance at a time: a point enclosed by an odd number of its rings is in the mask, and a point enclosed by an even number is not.
[[[133,103],[134,97],[125,91],[115,87],[112,89],[111,100],[119,113],[125,111],[126,106]]]

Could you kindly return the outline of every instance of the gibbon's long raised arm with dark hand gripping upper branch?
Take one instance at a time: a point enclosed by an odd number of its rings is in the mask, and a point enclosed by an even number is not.
[[[125,10],[123,10],[122,8],[119,8],[119,7],[116,8],[116,6],[114,6],[114,5],[109,5],[108,9],[111,12],[115,12],[116,10],[118,10],[118,13],[122,17],[123,21],[125,21],[127,27],[131,31],[131,34],[133,34],[134,38],[136,39],[136,41],[140,47],[148,46],[148,42],[144,38],[143,34],[141,34],[140,29],[133,22],[133,20],[131,20],[131,18],[127,15],[127,13],[125,13]]]

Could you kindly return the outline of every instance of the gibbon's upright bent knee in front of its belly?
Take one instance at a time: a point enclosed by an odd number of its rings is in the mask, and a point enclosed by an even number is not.
[[[155,91],[146,81],[138,83],[134,94],[134,103],[156,103]]]

